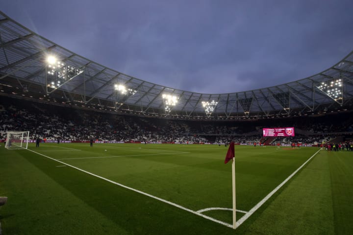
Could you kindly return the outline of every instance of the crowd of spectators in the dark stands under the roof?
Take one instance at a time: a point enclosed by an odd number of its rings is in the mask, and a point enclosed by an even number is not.
[[[257,121],[193,121],[145,118],[101,113],[64,106],[19,101],[1,97],[0,139],[6,131],[29,131],[30,138],[61,141],[141,141],[241,144],[265,142],[262,127],[295,126],[309,133],[291,138],[272,139],[280,142],[308,144],[329,141],[339,132],[353,132],[350,115],[322,118],[293,118]],[[334,118],[332,121],[332,118]],[[335,134],[325,134],[335,133]]]

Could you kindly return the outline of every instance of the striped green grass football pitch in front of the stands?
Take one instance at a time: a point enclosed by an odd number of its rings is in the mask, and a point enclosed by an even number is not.
[[[1,145],[0,196],[8,197],[0,209],[5,235],[353,231],[353,152],[320,151],[234,231],[190,212],[232,207],[225,146],[42,143],[7,150]],[[237,210],[243,211],[237,219],[318,150],[236,145]],[[202,214],[232,223],[229,210]]]

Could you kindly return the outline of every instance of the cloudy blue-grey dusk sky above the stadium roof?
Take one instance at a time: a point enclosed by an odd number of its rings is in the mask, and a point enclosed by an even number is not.
[[[0,10],[108,68],[198,93],[299,80],[353,50],[353,0],[2,0]]]

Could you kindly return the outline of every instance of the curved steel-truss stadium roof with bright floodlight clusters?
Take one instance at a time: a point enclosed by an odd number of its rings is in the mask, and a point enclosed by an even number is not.
[[[107,68],[0,12],[0,90],[65,105],[167,118],[300,116],[353,110],[353,51],[331,68],[301,80],[245,92],[201,94]]]

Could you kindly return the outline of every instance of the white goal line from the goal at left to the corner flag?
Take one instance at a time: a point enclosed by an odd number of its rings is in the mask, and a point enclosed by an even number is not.
[[[210,217],[210,216],[204,215],[204,214],[199,213],[199,212],[197,212],[197,211],[190,210],[190,209],[188,209],[188,208],[186,208],[186,207],[183,207],[183,206],[180,206],[180,205],[178,205],[178,204],[176,204],[176,203],[173,203],[173,202],[164,200],[164,199],[162,199],[162,198],[153,196],[153,195],[151,195],[151,194],[148,194],[148,193],[146,193],[146,192],[140,191],[140,190],[135,189],[135,188],[130,188],[130,187],[128,187],[128,186],[122,185],[122,184],[117,183],[117,182],[115,182],[115,181],[112,181],[112,180],[106,179],[106,178],[104,178],[104,177],[101,177],[101,176],[99,176],[99,175],[93,174],[93,173],[91,173],[91,172],[89,172],[89,171],[80,169],[80,168],[78,168],[78,167],[76,167],[76,166],[73,166],[73,165],[70,165],[70,164],[61,162],[61,161],[59,161],[59,160],[57,160],[57,159],[50,158],[50,157],[48,157],[48,156],[46,156],[46,155],[44,155],[44,154],[35,152],[35,151],[33,151],[33,150],[30,150],[30,149],[27,149],[27,150],[28,150],[28,151],[31,151],[31,152],[33,152],[33,153],[39,154],[39,155],[41,155],[41,156],[43,156],[43,157],[49,158],[49,159],[51,159],[51,160],[53,160],[53,161],[56,161],[56,162],[58,162],[58,163],[65,164],[65,165],[67,165],[67,166],[70,166],[70,167],[72,167],[72,168],[75,168],[76,170],[82,171],[82,172],[84,172],[84,173],[86,173],[86,174],[89,174],[89,175],[95,176],[95,177],[97,177],[97,178],[100,178],[100,179],[102,179],[102,180],[105,180],[105,181],[107,181],[107,182],[109,182],[109,183],[112,183],[112,184],[114,184],[114,185],[118,185],[118,186],[120,186],[120,187],[122,187],[122,188],[126,188],[126,189],[129,189],[129,190],[131,190],[131,191],[141,193],[141,194],[143,194],[143,195],[145,195],[145,196],[148,196],[148,197],[151,197],[151,198],[153,198],[153,199],[155,199],[155,200],[158,200],[158,201],[167,203],[167,204],[169,204],[169,205],[171,205],[171,206],[177,207],[177,208],[182,209],[182,210],[184,210],[184,211],[188,211],[188,212],[190,212],[190,213],[199,215],[199,216],[201,216],[201,217],[203,217],[203,218],[205,218],[205,219],[208,219],[208,220],[211,220],[211,221],[213,221],[213,222],[222,224],[222,225],[227,226],[227,227],[229,227],[229,228],[232,228],[232,227],[233,227],[231,224],[228,224],[228,223],[226,223],[226,222],[223,222],[223,221],[220,221],[220,220],[218,220],[218,219],[212,218],[212,217]]]

